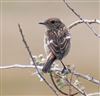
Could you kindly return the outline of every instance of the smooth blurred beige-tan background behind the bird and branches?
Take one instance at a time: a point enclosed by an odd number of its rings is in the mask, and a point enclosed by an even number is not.
[[[100,0],[70,0],[70,5],[85,19],[100,19]],[[18,23],[32,54],[45,56],[43,36],[46,28],[38,23],[50,17],[60,18],[66,26],[78,20],[62,0],[0,1],[0,66],[29,64],[30,57],[22,42]],[[100,31],[99,25],[92,26]],[[100,80],[100,40],[85,24],[73,27],[70,32],[72,45],[64,63],[75,64],[78,72]],[[54,96],[44,82],[33,76],[33,72],[31,68],[0,69],[0,96]],[[47,78],[50,80],[49,76]],[[99,91],[88,81],[83,80],[82,84],[89,93]]]

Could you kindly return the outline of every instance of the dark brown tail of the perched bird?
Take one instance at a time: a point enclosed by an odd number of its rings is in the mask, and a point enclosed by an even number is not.
[[[46,61],[46,64],[43,66],[42,71],[44,73],[47,73],[50,71],[51,65],[53,64],[53,62],[55,61],[56,57],[53,54],[49,54],[49,57]]]

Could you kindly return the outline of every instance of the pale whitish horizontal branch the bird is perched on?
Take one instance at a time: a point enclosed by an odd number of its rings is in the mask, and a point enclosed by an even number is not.
[[[37,64],[36,64],[37,65]],[[9,69],[9,68],[35,68],[35,65],[21,65],[21,64],[14,64],[14,65],[9,65],[9,66],[0,66],[0,69]],[[43,66],[37,65],[38,70],[42,70]],[[53,67],[51,68],[51,71],[62,71],[62,68],[57,68],[57,67]],[[73,75],[76,75],[80,78],[86,79],[94,84],[96,84],[97,86],[100,86],[100,81],[94,79],[93,77],[89,76],[89,75],[85,75],[82,73],[78,73],[76,71],[71,71]],[[38,74],[38,73],[37,73]],[[40,77],[39,77],[40,78]],[[42,78],[41,78],[42,79]]]

